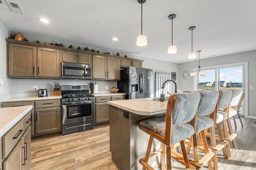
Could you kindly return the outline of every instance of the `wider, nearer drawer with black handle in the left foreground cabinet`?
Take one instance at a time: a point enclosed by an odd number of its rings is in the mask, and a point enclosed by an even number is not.
[[[2,137],[3,159],[5,159],[23,135],[22,121],[19,121]]]

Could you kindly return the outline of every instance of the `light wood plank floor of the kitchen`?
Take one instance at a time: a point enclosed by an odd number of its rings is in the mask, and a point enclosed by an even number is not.
[[[237,121],[236,142],[231,145],[231,158],[224,159],[218,152],[219,170],[256,170],[256,120],[242,118]],[[53,134],[32,138],[31,170],[117,170],[109,150],[109,124],[69,135]],[[172,161],[173,169],[184,169]],[[202,170],[207,167],[202,168]]]

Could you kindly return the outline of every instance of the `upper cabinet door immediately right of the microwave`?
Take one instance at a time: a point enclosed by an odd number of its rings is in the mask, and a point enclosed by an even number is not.
[[[92,79],[107,79],[107,58],[92,56]]]

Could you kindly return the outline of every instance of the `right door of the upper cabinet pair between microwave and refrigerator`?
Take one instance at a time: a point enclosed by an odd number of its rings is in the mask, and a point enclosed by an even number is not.
[[[108,57],[108,79],[120,80],[120,59]]]

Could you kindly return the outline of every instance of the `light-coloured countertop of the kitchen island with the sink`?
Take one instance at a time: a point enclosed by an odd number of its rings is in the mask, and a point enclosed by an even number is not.
[[[137,115],[156,115],[166,113],[167,102],[146,99],[108,101],[108,104]]]

